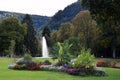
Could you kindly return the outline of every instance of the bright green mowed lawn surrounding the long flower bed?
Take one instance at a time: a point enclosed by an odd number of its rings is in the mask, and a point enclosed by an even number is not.
[[[80,77],[62,72],[10,70],[8,65],[12,61],[10,58],[0,58],[0,80],[120,80],[120,69],[103,68],[108,74],[105,77]]]

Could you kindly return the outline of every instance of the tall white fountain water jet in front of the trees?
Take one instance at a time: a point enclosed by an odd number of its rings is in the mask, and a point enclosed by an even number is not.
[[[44,36],[42,37],[42,57],[49,58],[49,51],[48,51],[46,39]]]

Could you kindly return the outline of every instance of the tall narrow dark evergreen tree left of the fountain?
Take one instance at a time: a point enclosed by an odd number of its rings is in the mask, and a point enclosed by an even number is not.
[[[30,53],[35,56],[37,53],[37,38],[35,37],[33,21],[30,15],[26,14],[22,23],[26,23],[27,25],[27,35],[24,38],[24,45],[26,46],[27,50],[29,50]]]

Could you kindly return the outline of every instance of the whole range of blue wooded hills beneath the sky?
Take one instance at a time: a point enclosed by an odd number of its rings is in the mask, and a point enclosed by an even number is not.
[[[44,26],[48,25],[50,29],[59,29],[60,24],[64,22],[70,22],[72,19],[82,10],[80,2],[77,1],[68,5],[64,10],[59,10],[54,16],[47,17],[41,15],[30,15],[34,29],[39,33],[43,29]],[[25,14],[23,13],[15,13],[15,12],[7,12],[7,11],[0,11],[0,21],[10,17],[17,17],[20,20],[23,19]]]

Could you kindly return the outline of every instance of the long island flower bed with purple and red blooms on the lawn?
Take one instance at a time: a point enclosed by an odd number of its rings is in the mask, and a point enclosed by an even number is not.
[[[88,54],[83,53],[78,56],[76,60],[65,63],[61,66],[51,64],[48,60],[38,64],[33,61],[30,56],[26,55],[17,60],[14,64],[9,65],[8,68],[17,70],[57,71],[77,76],[105,76],[105,71],[95,67],[94,56],[89,53],[89,50],[86,53]],[[102,63],[99,62],[98,64]]]

